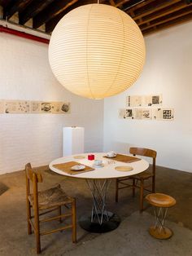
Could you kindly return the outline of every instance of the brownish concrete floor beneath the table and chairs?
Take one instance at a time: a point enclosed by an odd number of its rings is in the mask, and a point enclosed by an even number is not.
[[[47,168],[41,169],[44,183],[41,189],[60,183],[70,196],[76,197],[77,219],[91,209],[91,197],[84,180],[66,179]],[[85,232],[77,225],[76,245],[72,244],[71,232],[58,232],[42,236],[42,255],[192,255],[192,174],[157,167],[156,192],[164,192],[177,200],[168,211],[167,225],[174,236],[168,241],[152,238],[147,229],[154,223],[151,207],[138,214],[138,194],[130,190],[120,192],[115,202],[115,183],[108,191],[108,209],[116,212],[122,220],[120,227],[106,234]],[[35,255],[34,235],[27,235],[25,209],[24,171],[0,175],[0,255]]]

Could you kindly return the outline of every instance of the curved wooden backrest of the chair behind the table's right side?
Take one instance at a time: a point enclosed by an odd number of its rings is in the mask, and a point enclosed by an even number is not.
[[[133,156],[151,157],[153,159],[152,171],[155,175],[155,160],[157,156],[155,150],[149,148],[129,148],[129,152],[133,154]]]

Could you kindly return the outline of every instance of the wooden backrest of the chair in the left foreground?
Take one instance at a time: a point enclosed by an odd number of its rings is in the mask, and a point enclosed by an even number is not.
[[[37,183],[42,182],[42,176],[36,173],[30,163],[25,166],[25,177],[26,177],[26,196],[33,193],[34,200],[37,197]],[[31,186],[32,185],[32,186]],[[33,187],[33,188],[32,188]]]

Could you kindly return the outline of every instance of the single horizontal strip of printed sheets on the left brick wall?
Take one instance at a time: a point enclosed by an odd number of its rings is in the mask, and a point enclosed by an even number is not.
[[[71,105],[56,101],[0,100],[0,113],[70,113]]]

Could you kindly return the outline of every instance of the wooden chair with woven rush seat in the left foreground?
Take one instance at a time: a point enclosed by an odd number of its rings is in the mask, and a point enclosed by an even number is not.
[[[27,200],[27,216],[28,216],[28,235],[32,234],[32,230],[36,236],[37,254],[41,253],[40,236],[47,235],[54,232],[60,232],[68,228],[72,228],[72,242],[76,242],[76,201],[63,192],[63,189],[58,185],[55,188],[50,188],[45,191],[38,192],[38,183],[42,183],[41,174],[36,173],[31,165],[28,163],[25,166],[26,174],[26,200]],[[67,212],[62,214],[62,206],[66,206]],[[33,209],[33,216],[31,210]],[[48,214],[51,211],[57,210],[58,214],[54,217],[44,217],[41,215]],[[40,224],[47,223],[52,220],[59,220],[62,218],[72,218],[72,223],[41,232]]]

